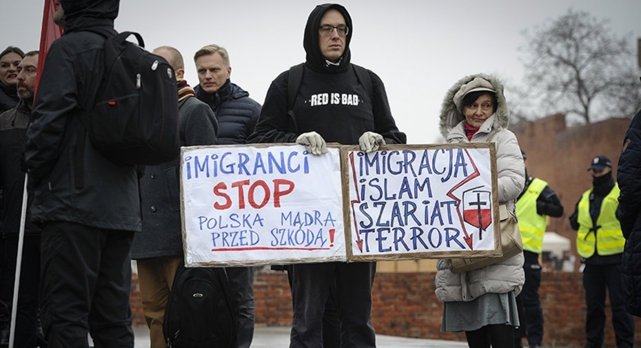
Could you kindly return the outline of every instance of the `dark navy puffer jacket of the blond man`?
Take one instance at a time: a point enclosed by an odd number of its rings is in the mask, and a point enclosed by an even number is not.
[[[210,105],[218,120],[217,145],[246,144],[254,132],[261,104],[250,98],[249,92],[227,80],[216,93],[207,93],[201,85],[194,90],[196,97]]]

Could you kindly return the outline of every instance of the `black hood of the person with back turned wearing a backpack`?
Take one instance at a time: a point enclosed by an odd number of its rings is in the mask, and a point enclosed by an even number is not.
[[[59,0],[64,10],[65,34],[89,27],[114,27],[120,0]]]

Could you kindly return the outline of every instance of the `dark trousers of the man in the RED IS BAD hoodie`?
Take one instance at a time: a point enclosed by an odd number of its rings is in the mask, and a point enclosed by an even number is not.
[[[297,264],[289,272],[294,307],[290,348],[323,347],[323,312],[334,285],[341,347],[376,347],[371,318],[376,263]]]

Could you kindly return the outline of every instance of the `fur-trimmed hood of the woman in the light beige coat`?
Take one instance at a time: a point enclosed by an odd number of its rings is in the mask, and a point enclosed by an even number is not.
[[[456,127],[461,121],[465,121],[465,115],[461,114],[456,105],[454,104],[454,94],[460,90],[462,85],[469,83],[474,80],[476,77],[480,77],[489,81],[494,86],[496,90],[496,101],[498,103],[496,112],[496,120],[499,125],[507,129],[509,125],[509,110],[507,109],[507,103],[505,102],[505,95],[503,94],[503,84],[500,82],[498,77],[489,74],[474,74],[465,76],[455,83],[445,94],[445,99],[443,99],[442,106],[440,108],[440,122],[439,129],[440,134],[447,139],[447,134],[449,131]]]

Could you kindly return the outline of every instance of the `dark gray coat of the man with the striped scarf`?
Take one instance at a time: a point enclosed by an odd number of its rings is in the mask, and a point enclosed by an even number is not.
[[[181,146],[214,145],[218,123],[205,103],[190,97],[179,103]],[[132,258],[182,256],[180,158],[145,167],[140,179],[143,232],[134,235]]]

